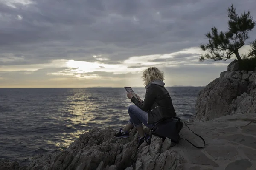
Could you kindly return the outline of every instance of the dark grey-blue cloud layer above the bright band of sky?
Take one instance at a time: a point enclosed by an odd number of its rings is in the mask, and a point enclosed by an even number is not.
[[[168,54],[206,42],[204,34],[213,25],[226,29],[231,3],[238,13],[250,10],[256,17],[251,0],[32,2],[15,3],[16,8],[0,3],[0,51],[24,57],[13,64],[93,61],[93,55],[117,63],[131,56]],[[255,36],[254,30],[250,37]]]

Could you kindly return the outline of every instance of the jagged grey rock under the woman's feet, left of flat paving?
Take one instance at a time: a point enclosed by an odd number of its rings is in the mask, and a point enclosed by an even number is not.
[[[35,156],[27,170],[182,170],[182,158],[169,150],[169,139],[163,142],[154,136],[150,146],[145,142],[137,149],[135,129],[129,139],[116,139],[113,137],[115,133],[113,129],[95,128],[82,134],[64,151]],[[6,167],[5,162],[16,164],[5,160],[0,163],[0,168]]]

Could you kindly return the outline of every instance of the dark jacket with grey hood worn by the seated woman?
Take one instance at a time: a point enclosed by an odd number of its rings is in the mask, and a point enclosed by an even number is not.
[[[143,111],[148,112],[148,124],[155,123],[160,119],[176,116],[175,109],[172,105],[172,99],[164,85],[163,81],[155,80],[145,87],[146,95],[144,101],[140,102],[135,97],[131,98],[131,102]]]

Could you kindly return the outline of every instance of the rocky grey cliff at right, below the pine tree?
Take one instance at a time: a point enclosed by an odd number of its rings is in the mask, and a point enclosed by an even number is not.
[[[256,112],[256,71],[239,71],[236,60],[199,92],[195,120]]]

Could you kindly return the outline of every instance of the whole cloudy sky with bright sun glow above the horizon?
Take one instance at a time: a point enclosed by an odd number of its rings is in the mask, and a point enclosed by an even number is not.
[[[231,3],[256,20],[255,0],[0,0],[0,88],[143,87],[150,66],[207,85],[231,60],[198,62],[198,46]]]

